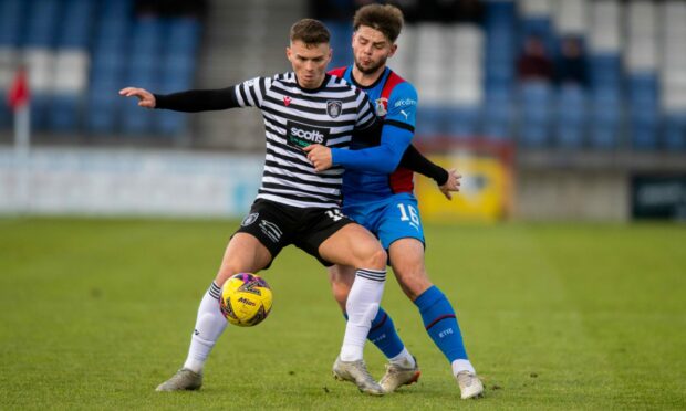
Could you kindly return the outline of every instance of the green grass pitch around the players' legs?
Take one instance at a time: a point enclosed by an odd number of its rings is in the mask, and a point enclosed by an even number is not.
[[[0,219],[0,409],[684,409],[686,229],[427,225],[487,397],[460,401],[394,280],[384,306],[419,383],[384,398],[331,378],[344,323],[326,275],[288,249],[270,317],[228,328],[199,392],[157,393],[181,365],[231,221]],[[383,357],[368,346],[372,373]]]

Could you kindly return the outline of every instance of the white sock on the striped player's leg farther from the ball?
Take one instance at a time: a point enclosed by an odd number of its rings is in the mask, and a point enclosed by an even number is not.
[[[370,334],[370,328],[372,328],[372,320],[378,312],[385,282],[385,270],[361,268],[355,272],[355,281],[345,304],[347,324],[341,347],[341,359],[343,361],[362,359],[364,342],[367,339],[367,334]]]

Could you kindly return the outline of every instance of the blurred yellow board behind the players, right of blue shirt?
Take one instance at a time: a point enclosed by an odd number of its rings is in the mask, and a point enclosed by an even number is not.
[[[507,217],[511,177],[501,159],[459,152],[428,157],[447,170],[457,169],[462,175],[462,185],[459,192],[453,193],[453,201],[448,201],[435,181],[415,175],[416,194],[425,221],[492,222]]]

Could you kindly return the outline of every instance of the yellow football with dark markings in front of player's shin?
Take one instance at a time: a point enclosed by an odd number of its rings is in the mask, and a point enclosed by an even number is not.
[[[240,327],[260,324],[271,310],[272,293],[259,275],[239,273],[221,287],[219,307],[227,320]]]

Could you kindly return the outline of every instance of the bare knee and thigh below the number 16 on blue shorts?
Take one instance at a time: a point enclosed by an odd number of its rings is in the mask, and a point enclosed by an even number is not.
[[[394,241],[388,256],[401,288],[412,301],[432,286],[424,264],[424,243],[419,240],[405,238]]]

